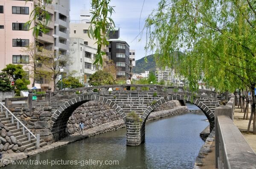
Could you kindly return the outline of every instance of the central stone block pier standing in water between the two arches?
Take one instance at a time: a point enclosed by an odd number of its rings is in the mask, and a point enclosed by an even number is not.
[[[126,117],[126,145],[139,146],[145,141],[145,125],[133,117]]]

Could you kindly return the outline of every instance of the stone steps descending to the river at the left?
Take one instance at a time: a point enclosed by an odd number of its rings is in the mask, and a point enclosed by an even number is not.
[[[15,136],[18,142],[25,147],[25,149],[29,152],[33,149],[36,149],[36,139],[31,136],[31,140],[28,139],[28,131],[25,130],[25,134],[23,134],[22,125],[20,124],[20,128],[17,129],[17,121],[14,119],[14,124],[12,124],[12,118],[9,114],[9,117],[6,118],[5,109],[3,108],[3,112],[0,112],[0,122],[4,124],[9,132],[12,132],[12,135]],[[47,145],[47,142],[40,139],[40,147]],[[24,149],[24,150],[25,150]]]

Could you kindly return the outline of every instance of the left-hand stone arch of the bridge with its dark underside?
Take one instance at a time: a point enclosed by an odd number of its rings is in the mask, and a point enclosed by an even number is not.
[[[81,104],[91,100],[100,101],[103,104],[109,105],[111,108],[116,110],[120,117],[126,122],[125,112],[121,107],[119,107],[119,105],[110,99],[98,95],[80,95],[66,101],[62,106],[58,107],[55,113],[53,113],[51,121],[51,133],[54,141],[58,141],[67,135],[67,121],[72,115],[73,111],[76,110],[77,107],[81,106]]]

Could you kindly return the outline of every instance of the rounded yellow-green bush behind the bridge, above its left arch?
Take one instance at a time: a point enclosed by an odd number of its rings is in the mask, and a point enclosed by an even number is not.
[[[115,85],[116,81],[110,73],[98,70],[90,76],[88,83],[93,86]]]

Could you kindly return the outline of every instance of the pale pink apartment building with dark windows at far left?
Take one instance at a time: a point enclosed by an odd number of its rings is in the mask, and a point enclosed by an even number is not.
[[[54,8],[51,4],[46,7],[50,14],[50,22],[47,25],[49,32],[47,34],[40,33],[38,39],[35,39],[32,30],[29,30],[25,25],[34,5],[38,5],[37,0],[27,2],[25,0],[0,0],[0,45],[2,47],[0,48],[2,59],[0,70],[8,64],[28,65],[31,60],[27,54],[21,52],[21,49],[30,43],[37,43],[49,51],[54,50]],[[32,25],[36,25],[40,20],[43,19],[38,17]],[[26,66],[23,68],[25,69]],[[30,88],[33,79],[29,78],[29,80],[31,81],[28,86]],[[49,79],[37,78],[35,79],[35,86],[46,90],[48,87],[52,87],[53,83]]]

